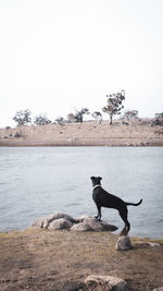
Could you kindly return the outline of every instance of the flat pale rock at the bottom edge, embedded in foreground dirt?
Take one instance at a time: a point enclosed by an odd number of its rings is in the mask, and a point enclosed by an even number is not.
[[[85,283],[89,291],[128,291],[127,283],[116,277],[90,275]]]

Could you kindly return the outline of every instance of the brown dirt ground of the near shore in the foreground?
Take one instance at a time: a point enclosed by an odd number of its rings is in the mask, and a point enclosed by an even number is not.
[[[87,290],[89,275],[109,275],[127,281],[131,291],[163,286],[163,240],[131,238],[133,250],[115,250],[118,237],[110,232],[27,229],[0,233],[0,290]]]

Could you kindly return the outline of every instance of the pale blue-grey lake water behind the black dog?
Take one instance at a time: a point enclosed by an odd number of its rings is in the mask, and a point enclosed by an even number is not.
[[[0,147],[0,231],[27,228],[37,217],[63,211],[95,216],[91,175],[128,206],[130,235],[163,238],[162,147]],[[124,227],[118,213],[102,218]]]

